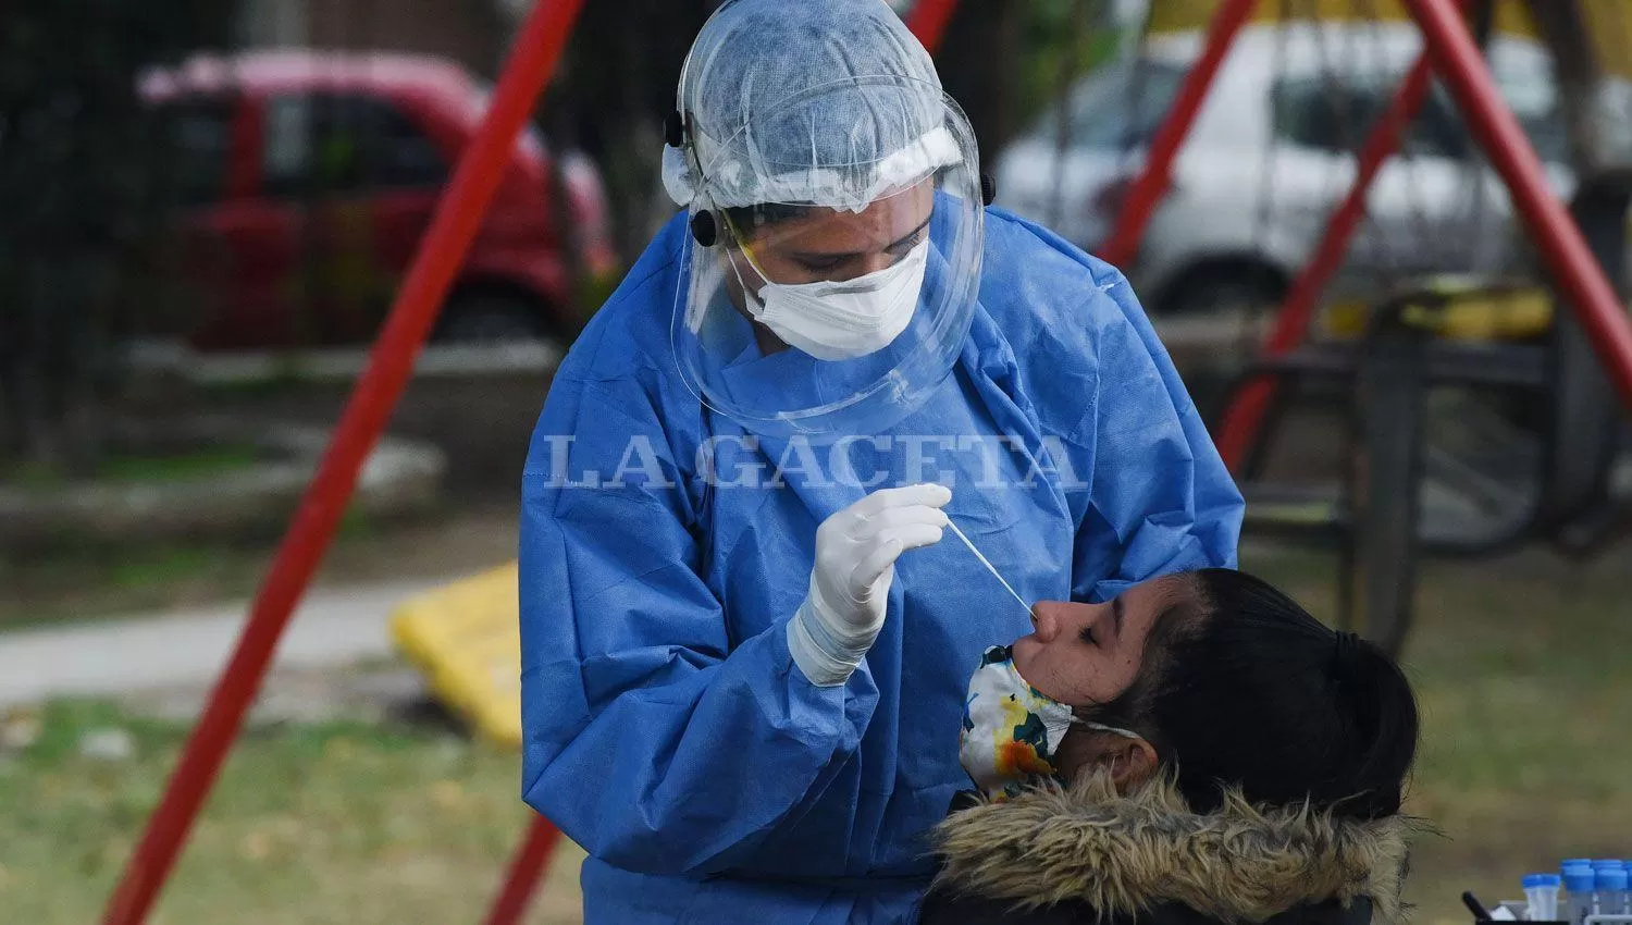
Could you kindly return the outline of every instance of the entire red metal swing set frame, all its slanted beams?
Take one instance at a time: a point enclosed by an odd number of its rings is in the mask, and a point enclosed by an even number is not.
[[[498,188],[503,173],[499,166],[548,83],[583,2],[539,0],[522,23],[494,90],[493,106],[459,160],[374,344],[367,369],[353,388],[317,475],[256,592],[232,657],[109,897],[103,915],[106,925],[144,922],[168,881],[193,822],[238,737],[277,641],[335,537],[362,463],[408,385],[413,364]],[[1185,77],[1172,109],[1152,137],[1144,170],[1133,183],[1126,207],[1102,248],[1106,261],[1124,264],[1138,253],[1151,215],[1167,191],[1173,160],[1255,2],[1219,0],[1201,59]],[[934,51],[956,7],[956,0],[919,0],[907,23],[919,41]],[[1405,0],[1405,7],[1423,33],[1423,54],[1371,129],[1359,152],[1353,189],[1330,217],[1320,246],[1293,284],[1265,343],[1266,354],[1283,354],[1304,341],[1319,297],[1342,264],[1350,238],[1364,215],[1371,179],[1394,152],[1400,129],[1421,106],[1430,77],[1438,72],[1474,137],[1511,191],[1547,269],[1591,336],[1611,380],[1632,408],[1632,323],[1580,228],[1552,196],[1541,160],[1497,93],[1479,46],[1462,21],[1457,0]],[[1217,440],[1232,467],[1252,444],[1271,396],[1273,383],[1253,385],[1229,409]],[[521,920],[558,839],[560,834],[548,821],[534,817],[485,922],[511,925]]]

